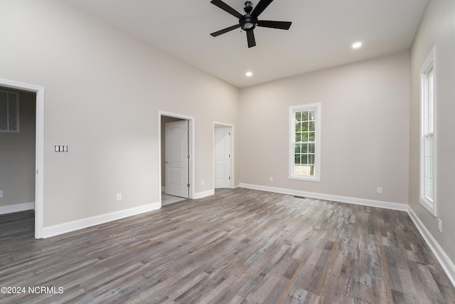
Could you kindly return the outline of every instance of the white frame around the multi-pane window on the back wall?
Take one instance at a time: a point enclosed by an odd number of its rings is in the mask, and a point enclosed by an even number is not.
[[[314,141],[314,175],[299,175],[294,173],[294,145],[296,144],[295,132],[296,112],[315,110],[315,141]],[[313,182],[321,181],[321,103],[294,105],[289,107],[289,179],[299,179]]]

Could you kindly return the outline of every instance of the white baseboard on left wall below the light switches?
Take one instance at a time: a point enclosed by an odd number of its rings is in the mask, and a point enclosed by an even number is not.
[[[137,206],[130,209],[124,209],[114,211],[108,214],[101,214],[99,216],[91,216],[86,219],[78,219],[76,221],[69,221],[68,223],[53,225],[44,227],[43,238],[49,238],[50,236],[58,236],[59,234],[66,234],[67,232],[84,229],[87,227],[104,224],[108,221],[115,221],[117,219],[123,219],[128,216],[134,216],[144,212],[154,211],[161,208],[161,204],[152,203],[143,206]]]

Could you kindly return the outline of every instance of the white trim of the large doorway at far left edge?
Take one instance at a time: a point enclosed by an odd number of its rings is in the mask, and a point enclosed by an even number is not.
[[[0,78],[6,88],[36,93],[36,148],[35,148],[35,239],[43,239],[44,228],[44,87]]]

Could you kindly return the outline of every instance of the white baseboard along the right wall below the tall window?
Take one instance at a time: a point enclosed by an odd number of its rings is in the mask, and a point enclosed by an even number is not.
[[[439,243],[434,239],[432,234],[428,231],[427,227],[424,226],[422,221],[420,221],[417,214],[415,214],[414,210],[412,210],[411,206],[408,206],[407,213],[410,215],[412,221],[414,222],[417,229],[419,229],[420,234],[422,234],[423,238],[427,242],[430,249],[432,249],[434,256],[436,256],[437,260],[441,264],[442,268],[446,272],[446,275],[449,277],[452,285],[455,286],[455,265],[450,261],[449,256],[444,252],[444,250],[439,246]]]

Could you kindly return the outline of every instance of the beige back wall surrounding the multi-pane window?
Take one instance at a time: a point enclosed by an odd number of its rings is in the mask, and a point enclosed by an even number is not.
[[[242,183],[407,204],[409,67],[404,51],[242,89]],[[322,107],[321,182],[289,179],[289,106],[307,103]]]

